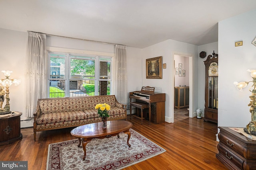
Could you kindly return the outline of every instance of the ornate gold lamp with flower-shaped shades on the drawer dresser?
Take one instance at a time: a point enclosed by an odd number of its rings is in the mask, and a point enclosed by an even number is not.
[[[249,83],[252,83],[252,86],[249,88],[249,91],[252,92],[252,95],[249,96],[250,103],[248,106],[250,106],[250,113],[251,113],[251,121],[246,127],[244,128],[244,131],[250,135],[256,135],[256,70],[247,70],[251,73],[252,81],[249,82],[234,82],[236,88],[239,91],[243,91],[242,89],[248,86]]]

